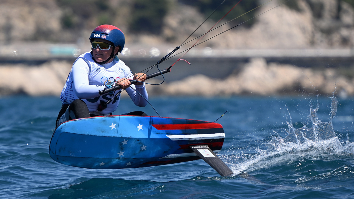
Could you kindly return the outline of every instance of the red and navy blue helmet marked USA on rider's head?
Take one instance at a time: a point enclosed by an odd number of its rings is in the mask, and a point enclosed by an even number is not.
[[[124,48],[124,34],[114,25],[99,25],[92,31],[90,41],[92,42],[95,38],[105,39],[112,42],[115,47],[119,46],[119,52],[122,52]]]

